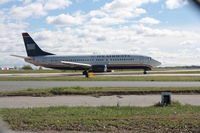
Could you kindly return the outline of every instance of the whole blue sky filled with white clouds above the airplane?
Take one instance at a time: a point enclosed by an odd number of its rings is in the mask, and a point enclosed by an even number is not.
[[[0,67],[23,66],[21,33],[57,55],[137,54],[200,65],[200,11],[189,0],[0,0]]]

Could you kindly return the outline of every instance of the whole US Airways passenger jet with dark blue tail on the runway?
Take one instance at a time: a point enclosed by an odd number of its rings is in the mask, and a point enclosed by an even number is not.
[[[111,72],[114,69],[142,69],[144,74],[148,70],[161,65],[159,61],[142,55],[70,55],[58,56],[43,51],[28,33],[22,33],[27,57],[12,55],[23,58],[26,62],[36,66],[59,70],[83,70],[88,72]]]

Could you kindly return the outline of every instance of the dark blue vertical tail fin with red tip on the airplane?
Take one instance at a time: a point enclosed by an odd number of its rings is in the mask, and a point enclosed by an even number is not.
[[[45,56],[45,55],[54,55],[40,49],[40,47],[35,43],[28,33],[22,33],[26,52],[28,56]]]

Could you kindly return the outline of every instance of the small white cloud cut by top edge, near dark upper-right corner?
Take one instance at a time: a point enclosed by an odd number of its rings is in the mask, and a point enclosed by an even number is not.
[[[179,8],[187,3],[187,0],[166,0],[165,2],[167,8],[169,9]]]

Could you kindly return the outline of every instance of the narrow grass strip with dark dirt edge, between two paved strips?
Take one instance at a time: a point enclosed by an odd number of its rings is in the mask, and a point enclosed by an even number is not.
[[[56,95],[146,95],[172,92],[173,94],[200,94],[200,87],[63,87],[49,89],[26,89],[0,92],[3,96],[56,96]]]

